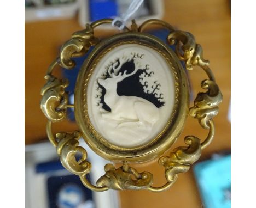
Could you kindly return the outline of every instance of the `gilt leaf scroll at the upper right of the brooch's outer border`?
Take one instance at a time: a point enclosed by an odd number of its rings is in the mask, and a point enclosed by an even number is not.
[[[188,70],[193,69],[195,65],[208,66],[210,64],[208,60],[203,59],[202,47],[200,44],[196,44],[195,38],[191,33],[174,31],[168,35],[167,40],[170,45],[177,42],[177,56],[185,61]]]

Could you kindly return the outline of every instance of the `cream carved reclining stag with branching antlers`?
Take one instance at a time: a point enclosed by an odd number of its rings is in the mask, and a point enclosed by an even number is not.
[[[132,59],[135,69],[130,74],[127,74],[127,70],[120,72],[122,65],[131,60],[123,56],[108,66],[107,79],[98,79],[98,83],[106,89],[104,102],[111,108],[111,112],[102,113],[102,117],[118,121],[118,126],[136,122],[153,126],[159,120],[159,109],[152,102],[137,96],[119,96],[117,93],[118,83],[135,75],[143,67],[139,61],[141,57],[133,56]]]

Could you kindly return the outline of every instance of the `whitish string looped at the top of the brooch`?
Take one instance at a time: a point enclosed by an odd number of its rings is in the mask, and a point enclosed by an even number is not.
[[[126,26],[126,21],[135,14],[138,8],[141,6],[144,0],[132,0],[129,8],[125,11],[125,13],[121,14],[121,17],[115,17],[112,21],[112,26],[117,27],[119,30],[123,30]]]

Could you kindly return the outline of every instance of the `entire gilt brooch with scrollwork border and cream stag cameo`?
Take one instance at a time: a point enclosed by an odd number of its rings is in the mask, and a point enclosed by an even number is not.
[[[201,151],[211,143],[213,117],[218,113],[222,94],[209,68],[210,62],[203,59],[202,47],[191,33],[175,30],[161,20],[147,20],[139,27],[132,20],[130,29],[124,27],[121,33],[98,39],[94,29],[112,21],[98,20],[73,33],[49,66],[40,102],[48,119],[46,131],[62,165],[80,176],[87,188],[165,191],[179,173],[187,172],[190,165],[199,160]],[[168,44],[144,32],[151,25],[169,30]],[[72,58],[84,56],[92,47],[79,71],[74,104],[70,104],[65,90],[68,80],[59,79],[52,72],[56,66],[72,70],[75,66]],[[204,92],[197,94],[194,106],[189,107],[185,69],[191,70],[194,66],[200,66],[208,78],[201,82]],[[51,127],[66,119],[67,108],[74,108],[79,129],[54,135]],[[208,130],[207,138],[187,136],[184,146],[163,156],[181,134],[187,116],[197,119],[202,128]],[[95,185],[91,184],[86,175],[94,164],[87,160],[79,139],[84,139],[101,157],[122,165],[106,164],[106,174]],[[75,158],[78,153],[82,155],[79,160]],[[132,168],[132,163],[156,158],[165,168],[166,183],[160,187],[153,185],[151,173],[139,173]]]

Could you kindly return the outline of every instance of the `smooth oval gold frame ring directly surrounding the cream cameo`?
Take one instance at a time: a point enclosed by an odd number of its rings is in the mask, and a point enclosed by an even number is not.
[[[170,71],[175,82],[175,103],[172,114],[166,126],[149,143],[135,148],[124,148],[109,143],[104,139],[91,124],[87,106],[87,86],[95,65],[113,48],[124,44],[139,44],[152,48],[160,53],[168,62]],[[187,76],[184,69],[176,58],[177,56],[166,44],[149,34],[139,32],[126,32],[114,35],[100,42],[91,51],[85,63],[79,71],[77,85],[75,87],[75,120],[79,126],[83,138],[92,150],[107,160],[121,162],[146,162],[159,157],[176,141],[183,129],[185,118],[188,115],[189,90]],[[174,64],[175,66],[174,66]],[[135,154],[136,152],[136,154]]]

